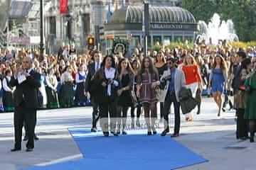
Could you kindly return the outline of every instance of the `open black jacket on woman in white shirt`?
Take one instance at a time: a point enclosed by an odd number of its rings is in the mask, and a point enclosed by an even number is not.
[[[118,73],[117,69],[115,71],[114,75],[114,80],[118,82]],[[105,68],[100,68],[95,75],[92,77],[92,82],[91,82],[91,91],[93,91],[93,97],[95,98],[95,101],[97,103],[107,103],[108,96],[107,96],[107,86],[102,86],[102,82],[105,81],[107,84],[107,78],[105,77]],[[117,90],[119,89],[119,86],[114,86],[112,84],[111,86],[111,96],[110,100],[111,101],[117,101]]]

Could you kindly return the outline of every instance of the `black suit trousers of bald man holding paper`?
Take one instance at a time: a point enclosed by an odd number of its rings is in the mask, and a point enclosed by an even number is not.
[[[14,131],[15,131],[15,147],[21,148],[21,137],[23,122],[27,126],[28,142],[27,148],[34,147],[34,133],[36,126],[36,108],[25,108],[23,105],[15,107],[14,110]]]

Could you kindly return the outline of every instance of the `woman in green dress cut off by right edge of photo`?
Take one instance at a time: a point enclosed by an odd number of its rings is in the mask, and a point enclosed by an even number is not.
[[[256,65],[256,62],[255,62]],[[249,120],[250,142],[254,142],[256,130],[256,73],[246,79],[245,86],[250,86],[250,92],[247,92],[247,102],[245,105],[245,119]]]

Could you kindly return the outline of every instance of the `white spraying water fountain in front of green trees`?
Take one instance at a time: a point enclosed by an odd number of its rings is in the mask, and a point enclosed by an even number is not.
[[[234,23],[232,20],[220,21],[218,13],[214,13],[208,26],[205,21],[198,21],[199,31],[196,40],[200,42],[206,40],[206,44],[217,45],[219,40],[239,41],[235,34]]]

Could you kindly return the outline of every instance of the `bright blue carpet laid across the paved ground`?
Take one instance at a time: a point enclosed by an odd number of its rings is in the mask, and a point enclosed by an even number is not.
[[[84,159],[27,170],[169,170],[207,161],[169,136],[147,136],[146,130],[130,130],[129,135],[119,137],[103,137],[90,128],[69,131]]]

